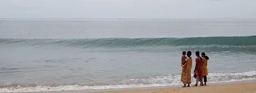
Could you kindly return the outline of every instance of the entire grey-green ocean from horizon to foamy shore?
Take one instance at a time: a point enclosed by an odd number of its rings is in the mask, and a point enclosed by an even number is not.
[[[256,80],[255,30],[255,19],[2,19],[0,92],[182,85],[182,51],[193,68],[206,52],[209,83]]]

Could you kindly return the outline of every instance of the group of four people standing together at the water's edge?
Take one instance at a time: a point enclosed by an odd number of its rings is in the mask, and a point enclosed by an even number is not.
[[[187,57],[186,57],[186,52],[183,51],[182,52],[182,58],[181,58],[181,63],[182,63],[182,74],[181,74],[181,81],[183,82],[184,86],[182,87],[189,87],[191,84],[191,69],[192,69],[192,57],[191,57],[191,51],[187,52]],[[200,52],[196,51],[196,67],[194,70],[194,75],[193,77],[196,79],[196,85],[198,84],[198,82],[200,81],[200,85],[206,86],[206,82],[207,82],[207,75],[208,75],[208,71],[207,71],[207,61],[209,60],[209,57],[206,56],[205,52],[201,53],[200,57]],[[205,82],[205,84],[203,84],[202,80]],[[186,86],[186,84],[188,84]]]

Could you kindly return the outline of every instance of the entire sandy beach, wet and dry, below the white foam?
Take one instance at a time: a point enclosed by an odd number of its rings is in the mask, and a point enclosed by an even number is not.
[[[192,86],[193,84],[191,84]],[[182,86],[182,85],[181,85]],[[239,82],[224,82],[208,84],[208,86],[192,86],[184,87],[181,86],[168,86],[168,87],[142,87],[134,89],[110,89],[110,90],[82,90],[82,91],[52,91],[52,92],[34,92],[34,93],[256,93],[256,81],[239,81]]]

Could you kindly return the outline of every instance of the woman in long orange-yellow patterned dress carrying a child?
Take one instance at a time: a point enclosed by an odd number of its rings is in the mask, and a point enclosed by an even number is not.
[[[187,52],[187,58],[186,58],[186,64],[182,66],[182,74],[181,74],[181,81],[183,82],[184,86],[186,87],[186,84],[188,84],[187,87],[189,87],[191,84],[191,68],[192,68],[192,58],[191,56],[191,51]]]

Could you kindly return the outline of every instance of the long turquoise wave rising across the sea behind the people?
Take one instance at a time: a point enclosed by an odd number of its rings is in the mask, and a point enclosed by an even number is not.
[[[187,38],[79,38],[79,39],[16,39],[2,38],[2,44],[19,43],[28,46],[84,46],[90,47],[145,47],[145,46],[193,46],[193,45],[225,45],[225,46],[254,46],[256,36],[233,37],[187,37]],[[81,47],[82,48],[82,47]]]

